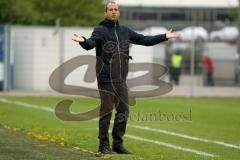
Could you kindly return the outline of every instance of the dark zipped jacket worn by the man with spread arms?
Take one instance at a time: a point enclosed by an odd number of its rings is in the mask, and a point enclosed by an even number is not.
[[[166,41],[166,34],[144,36],[107,19],[99,23],[89,39],[79,43],[84,49],[96,47],[98,83],[125,81],[130,44],[152,46]]]

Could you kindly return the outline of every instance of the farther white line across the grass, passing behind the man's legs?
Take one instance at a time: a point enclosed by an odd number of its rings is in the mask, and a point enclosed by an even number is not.
[[[34,109],[39,109],[39,110],[43,110],[43,111],[54,112],[54,109],[49,108],[47,106],[34,105],[34,104],[29,104],[29,103],[20,102],[20,101],[11,101],[11,100],[7,100],[5,98],[0,98],[0,101],[4,102],[4,103],[11,103],[11,104],[20,105],[20,106],[27,107],[27,108],[34,108]],[[94,120],[97,120],[97,119],[94,119]],[[143,130],[147,130],[147,131],[159,132],[159,133],[163,133],[163,134],[167,134],[167,135],[173,135],[173,136],[178,136],[178,137],[182,137],[182,138],[186,138],[186,139],[202,141],[202,142],[206,142],[206,143],[214,143],[214,144],[218,144],[218,145],[223,145],[225,147],[231,147],[231,148],[240,149],[240,146],[236,146],[236,145],[233,145],[233,144],[227,144],[227,143],[224,143],[224,142],[221,142],[221,141],[213,141],[213,140],[208,140],[208,139],[203,139],[203,138],[198,138],[198,137],[192,137],[192,136],[188,136],[188,135],[185,135],[185,134],[169,132],[169,131],[166,131],[166,130],[150,128],[150,127],[147,127],[147,126],[138,126],[138,125],[128,125],[128,126],[129,127],[133,127],[133,128],[137,128],[137,129],[143,129]],[[141,138],[141,137],[138,137],[138,138]],[[162,143],[164,144],[164,142],[162,142]],[[169,145],[171,145],[171,144],[169,144]],[[178,147],[178,146],[176,146],[176,147]]]

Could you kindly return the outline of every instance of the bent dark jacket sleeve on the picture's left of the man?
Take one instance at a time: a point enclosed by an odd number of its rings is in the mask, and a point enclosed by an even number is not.
[[[101,31],[100,31],[100,28],[99,27],[95,27],[93,32],[92,32],[92,35],[90,38],[85,38],[84,42],[79,42],[79,44],[82,46],[82,48],[86,49],[86,50],[90,50],[90,49],[93,49],[94,47],[96,47],[97,43],[100,42],[101,40]]]

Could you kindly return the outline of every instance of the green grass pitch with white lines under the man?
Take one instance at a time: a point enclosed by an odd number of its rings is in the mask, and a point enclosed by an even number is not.
[[[53,111],[63,99],[74,101],[71,111],[76,113],[99,104],[97,99],[77,97],[0,97],[0,125],[19,128],[26,136],[29,132],[56,135],[52,141],[61,145],[60,140],[56,142],[59,135],[64,137],[62,147],[79,148],[98,156],[97,120],[60,120]],[[48,140],[51,141],[51,137]],[[240,99],[137,99],[137,104],[130,107],[124,145],[134,155],[110,155],[105,159],[237,160],[240,157]]]

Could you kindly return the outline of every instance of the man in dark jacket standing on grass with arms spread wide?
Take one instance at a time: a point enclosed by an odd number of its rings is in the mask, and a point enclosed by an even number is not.
[[[179,37],[171,30],[166,34],[144,36],[138,34],[118,22],[120,12],[115,2],[108,2],[105,8],[105,19],[94,28],[90,38],[74,34],[73,40],[84,49],[96,47],[96,73],[98,89],[101,98],[99,113],[99,152],[131,154],[123,146],[123,136],[126,131],[129,114],[128,89],[126,77],[128,74],[129,43],[152,46],[170,38]],[[112,149],[109,144],[108,129],[113,105],[116,115],[112,130]]]

